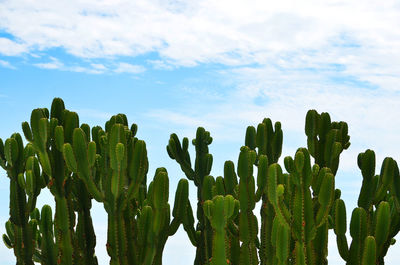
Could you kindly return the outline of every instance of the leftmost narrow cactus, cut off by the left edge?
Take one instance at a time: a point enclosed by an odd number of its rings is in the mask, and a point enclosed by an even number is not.
[[[10,179],[10,219],[3,240],[14,249],[17,265],[33,265],[33,255],[38,242],[35,240],[36,222],[30,220],[36,199],[45,186],[39,163],[31,144],[25,148],[18,133],[3,145],[0,139],[0,165]]]

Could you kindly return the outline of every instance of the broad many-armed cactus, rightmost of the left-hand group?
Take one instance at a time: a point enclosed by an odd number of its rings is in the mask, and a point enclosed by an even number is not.
[[[113,116],[105,131],[94,127],[91,142],[88,133],[76,128],[72,146],[64,144],[64,157],[68,168],[82,180],[91,196],[104,204],[108,213],[110,264],[158,265],[162,264],[168,236],[176,232],[183,217],[180,211],[170,223],[169,180],[165,169],[157,169],[147,190],[146,144],[135,137],[136,132],[137,126],[128,128],[123,114]],[[181,189],[184,187],[178,192]],[[188,199],[184,197],[188,195],[183,193],[178,203],[186,205]],[[146,235],[144,241],[140,242],[139,236],[143,235]]]

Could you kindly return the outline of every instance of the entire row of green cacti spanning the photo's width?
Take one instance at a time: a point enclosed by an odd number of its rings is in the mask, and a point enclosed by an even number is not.
[[[172,134],[167,152],[186,176],[178,183],[172,213],[167,170],[157,168],[148,180],[146,143],[124,114],[112,116],[104,128],[90,128],[56,98],[50,111],[34,109],[22,130],[26,145],[18,133],[4,143],[0,139],[0,166],[10,179],[3,241],[18,265],[98,264],[92,199],[108,215],[111,265],[161,265],[167,240],[181,224],[196,248],[195,265],[328,264],[330,229],[347,264],[384,264],[400,230],[398,165],[385,158],[375,175],[375,153],[366,150],[358,156],[363,182],[348,244],[346,206],[335,175],[350,136],[347,124],[332,122],[327,113],[307,113],[307,148],[285,157],[284,167],[278,163],[281,124],[266,118],[247,127],[237,166],[226,161],[217,177],[210,175],[208,131],[197,129],[194,164],[189,139]],[[197,189],[196,215],[189,181]],[[54,214],[48,205],[36,208],[46,187],[54,196]]]

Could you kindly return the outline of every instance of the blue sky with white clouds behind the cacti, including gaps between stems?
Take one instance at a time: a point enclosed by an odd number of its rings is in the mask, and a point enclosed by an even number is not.
[[[194,138],[198,126],[214,138],[218,176],[225,160],[237,162],[246,127],[264,117],[282,123],[281,158],[306,145],[307,110],[346,121],[351,146],[336,187],[348,217],[362,180],[358,153],[375,151],[377,173],[384,157],[400,158],[398,1],[0,0],[0,18],[0,138],[21,133],[32,109],[54,97],[91,126],[125,113],[147,143],[148,178],[167,168],[171,203],[184,175],[165,146],[173,132]],[[193,206],[195,192],[191,185]],[[1,170],[0,224],[8,201]],[[38,205],[52,203],[43,190]],[[108,264],[102,205],[92,214],[96,255]],[[387,264],[399,250],[389,249]],[[191,264],[194,254],[179,229],[164,264]],[[332,235],[328,260],[344,264]],[[15,264],[3,244],[0,263]]]

